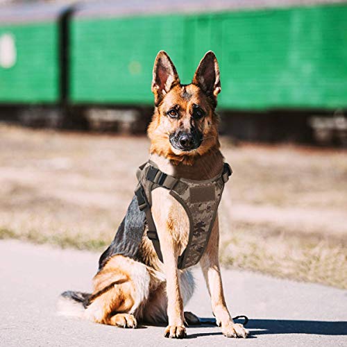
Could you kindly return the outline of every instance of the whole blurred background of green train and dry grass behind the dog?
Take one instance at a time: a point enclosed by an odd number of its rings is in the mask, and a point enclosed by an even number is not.
[[[347,288],[347,2],[0,0],[0,238],[103,250],[164,49],[219,60],[221,261]]]

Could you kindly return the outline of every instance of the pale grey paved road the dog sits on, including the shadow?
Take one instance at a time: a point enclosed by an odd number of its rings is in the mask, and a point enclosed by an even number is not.
[[[227,339],[219,328],[188,328],[188,339],[164,339],[163,327],[123,330],[57,316],[65,289],[90,289],[98,254],[0,241],[0,346],[347,346],[347,291],[223,271],[232,314],[246,314],[251,339]],[[196,271],[187,309],[212,316]]]

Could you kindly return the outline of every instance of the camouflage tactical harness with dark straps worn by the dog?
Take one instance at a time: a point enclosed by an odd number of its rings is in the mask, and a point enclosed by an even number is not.
[[[135,196],[139,210],[146,214],[147,237],[153,242],[155,252],[162,261],[158,233],[153,221],[152,191],[158,187],[168,189],[171,196],[183,206],[189,219],[189,239],[183,253],[178,257],[178,269],[185,269],[198,263],[210,239],[214,219],[217,215],[221,194],[232,170],[224,163],[221,174],[210,180],[187,180],[164,174],[149,160],[137,170],[139,184]]]

